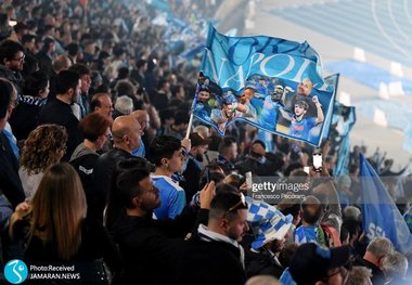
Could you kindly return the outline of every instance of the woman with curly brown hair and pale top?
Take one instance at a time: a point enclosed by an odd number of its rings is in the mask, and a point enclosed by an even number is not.
[[[42,125],[28,135],[23,147],[18,176],[27,198],[31,198],[44,170],[60,161],[66,151],[66,129],[57,125]]]

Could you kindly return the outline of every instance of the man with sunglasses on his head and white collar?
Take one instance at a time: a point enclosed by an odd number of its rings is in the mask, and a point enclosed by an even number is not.
[[[216,194],[207,225],[199,223],[192,238],[175,254],[170,284],[245,284],[244,249],[239,243],[248,231],[246,218],[243,195]]]

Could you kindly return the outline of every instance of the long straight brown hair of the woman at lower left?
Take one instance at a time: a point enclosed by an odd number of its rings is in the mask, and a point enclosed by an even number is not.
[[[76,170],[66,163],[53,165],[31,200],[28,241],[36,236],[43,244],[54,243],[59,258],[69,260],[80,247],[86,212],[86,196]]]

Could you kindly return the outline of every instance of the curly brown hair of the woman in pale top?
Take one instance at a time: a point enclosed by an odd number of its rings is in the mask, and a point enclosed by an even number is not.
[[[66,129],[48,124],[37,127],[28,135],[22,152],[21,165],[28,174],[37,174],[57,163],[67,142]]]

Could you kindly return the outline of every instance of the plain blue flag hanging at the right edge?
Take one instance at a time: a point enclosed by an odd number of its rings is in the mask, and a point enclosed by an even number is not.
[[[360,155],[361,206],[363,231],[369,239],[389,238],[402,254],[412,249],[412,235],[376,171]]]

